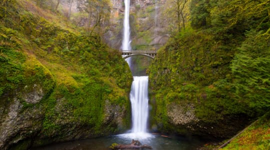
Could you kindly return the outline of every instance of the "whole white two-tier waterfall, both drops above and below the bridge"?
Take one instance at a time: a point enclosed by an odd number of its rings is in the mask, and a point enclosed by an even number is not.
[[[131,50],[130,46],[130,27],[129,27],[129,0],[124,0],[124,21],[123,21],[123,39],[122,50]],[[131,67],[130,59],[126,59]],[[132,129],[131,133],[121,134],[129,138],[146,138],[151,136],[146,133],[148,117],[148,76],[133,76],[133,82],[130,91],[130,101],[132,108]]]

